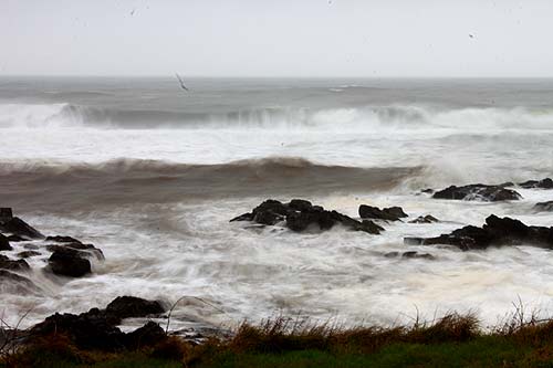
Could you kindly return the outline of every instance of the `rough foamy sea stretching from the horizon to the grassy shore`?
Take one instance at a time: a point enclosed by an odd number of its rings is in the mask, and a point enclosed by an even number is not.
[[[477,181],[553,176],[550,80],[208,80],[2,77],[0,203],[44,233],[102,248],[93,275],[36,271],[34,295],[0,309],[39,322],[129,294],[176,307],[171,325],[305,315],[347,324],[476,311],[494,323],[520,297],[552,312],[553,257],[517,246],[482,252],[404,245],[491,213],[551,225],[518,189],[512,202],[420,194]],[[356,217],[401,206],[411,220],[380,235],[294,233],[229,220],[268,198]],[[435,259],[386,257],[419,251]],[[38,261],[30,261],[38,262]],[[41,266],[40,264],[36,264]]]

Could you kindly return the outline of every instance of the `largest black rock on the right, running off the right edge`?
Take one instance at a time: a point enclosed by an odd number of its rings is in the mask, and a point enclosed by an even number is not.
[[[482,250],[489,246],[536,245],[553,248],[553,228],[529,227],[511,218],[498,218],[492,214],[486,219],[482,228],[468,225],[441,234],[437,238],[405,238],[406,244],[455,245],[463,251]]]

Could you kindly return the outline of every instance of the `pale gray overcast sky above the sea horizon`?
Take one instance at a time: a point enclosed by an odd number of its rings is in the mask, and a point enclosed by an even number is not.
[[[552,0],[0,0],[0,74],[553,76],[552,19]]]

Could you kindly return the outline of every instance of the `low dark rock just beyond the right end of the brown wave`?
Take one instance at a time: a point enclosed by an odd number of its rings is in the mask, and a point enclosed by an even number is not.
[[[434,193],[436,199],[482,200],[489,202],[519,200],[522,198],[517,191],[502,186],[470,185],[463,187],[451,186]]]

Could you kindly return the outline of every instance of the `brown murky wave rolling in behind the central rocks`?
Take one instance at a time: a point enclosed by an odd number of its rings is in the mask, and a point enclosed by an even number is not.
[[[378,191],[420,168],[323,166],[301,158],[221,165],[118,159],[100,165],[0,164],[0,203],[27,211],[86,211],[132,203],[168,203],[231,197],[310,196]]]

